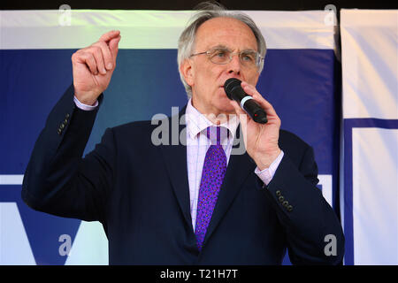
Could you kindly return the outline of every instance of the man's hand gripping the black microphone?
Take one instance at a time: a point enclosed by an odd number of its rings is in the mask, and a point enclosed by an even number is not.
[[[266,124],[258,124],[253,119],[250,119],[249,115],[241,109],[238,103],[235,101],[230,102],[241,120],[243,133],[246,133],[243,135],[246,150],[249,156],[256,162],[258,169],[263,170],[268,168],[279,156],[280,119],[272,105],[257,92],[255,87],[242,81],[241,88],[249,96],[252,96],[267,113],[268,122]],[[242,121],[242,119],[246,119],[246,121]]]

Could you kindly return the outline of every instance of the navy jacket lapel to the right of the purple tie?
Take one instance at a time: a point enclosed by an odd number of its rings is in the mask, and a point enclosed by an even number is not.
[[[241,126],[238,126],[236,130],[237,133],[240,131],[240,127]],[[246,151],[242,155],[231,155],[228,167],[226,168],[226,176],[224,177],[223,184],[218,193],[216,207],[214,208],[210,224],[204,237],[204,242],[208,241],[211,233],[214,232],[219,221],[226,214],[226,210],[228,210],[233,203],[233,199],[241,190],[241,185],[248,178],[249,173],[254,172],[255,168],[256,164]]]

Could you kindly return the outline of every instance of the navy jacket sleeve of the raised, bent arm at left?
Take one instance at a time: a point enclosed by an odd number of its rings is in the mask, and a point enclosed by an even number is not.
[[[111,130],[82,158],[97,111],[75,106],[73,86],[54,106],[24,175],[21,196],[28,206],[61,217],[103,221],[114,172]]]

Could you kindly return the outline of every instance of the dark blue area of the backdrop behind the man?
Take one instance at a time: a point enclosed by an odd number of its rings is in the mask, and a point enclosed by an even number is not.
[[[0,50],[0,175],[25,172],[45,119],[72,83],[74,51]],[[86,153],[106,127],[170,115],[172,106],[187,103],[176,57],[177,50],[119,50]],[[319,174],[332,176],[333,186],[323,188],[332,190],[337,210],[341,97],[335,65],[333,50],[268,50],[257,89],[274,106],[282,128],[314,147]],[[20,189],[1,185],[0,202],[17,203],[35,263],[65,264],[58,237],[69,234],[73,240],[80,220],[31,210],[21,201]]]

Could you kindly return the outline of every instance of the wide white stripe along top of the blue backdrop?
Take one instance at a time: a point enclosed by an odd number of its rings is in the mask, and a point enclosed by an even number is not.
[[[80,49],[111,29],[122,34],[120,49],[177,49],[192,12],[0,11],[0,49]],[[270,49],[334,49],[329,11],[244,12],[255,20]]]

